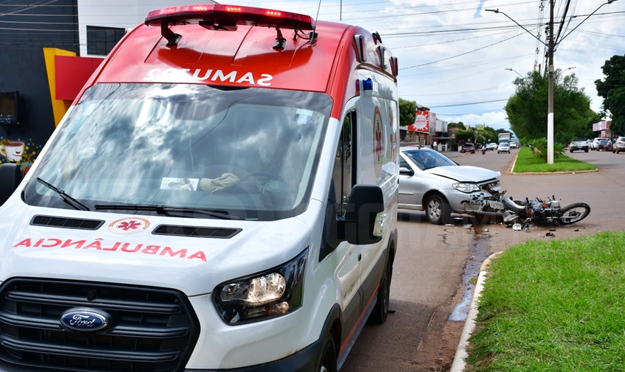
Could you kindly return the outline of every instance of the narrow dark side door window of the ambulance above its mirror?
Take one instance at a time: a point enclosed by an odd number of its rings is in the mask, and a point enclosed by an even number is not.
[[[353,186],[353,130],[356,128],[356,112],[350,111],[343,119],[341,137],[336,149],[334,161],[334,188],[336,192],[337,217],[344,217],[347,208],[347,198]]]

